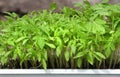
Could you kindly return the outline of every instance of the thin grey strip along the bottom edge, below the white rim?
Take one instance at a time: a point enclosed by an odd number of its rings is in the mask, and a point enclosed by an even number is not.
[[[49,74],[35,74],[35,75],[0,75],[0,77],[120,77],[120,75],[49,75]]]

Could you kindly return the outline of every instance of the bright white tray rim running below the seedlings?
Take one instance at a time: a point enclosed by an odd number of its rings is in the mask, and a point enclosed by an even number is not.
[[[120,74],[120,69],[0,69],[0,74]]]

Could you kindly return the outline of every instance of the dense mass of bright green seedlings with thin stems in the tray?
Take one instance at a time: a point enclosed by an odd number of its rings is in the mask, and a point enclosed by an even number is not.
[[[60,13],[7,13],[0,21],[1,68],[112,68],[118,64],[120,4],[76,4]]]

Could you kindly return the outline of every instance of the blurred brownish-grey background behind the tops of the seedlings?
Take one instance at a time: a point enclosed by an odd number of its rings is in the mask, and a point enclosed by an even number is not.
[[[92,5],[102,0],[88,0]],[[0,19],[4,19],[3,12],[16,12],[25,14],[33,10],[49,9],[52,2],[56,2],[58,8],[63,6],[73,7],[75,2],[83,2],[83,0],[0,0]],[[109,0],[109,3],[120,3],[120,0]]]

